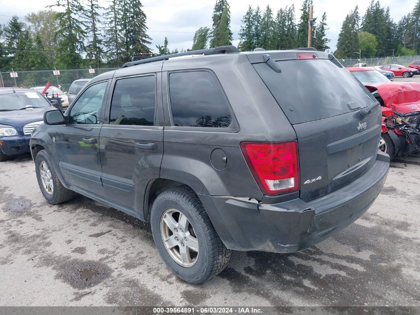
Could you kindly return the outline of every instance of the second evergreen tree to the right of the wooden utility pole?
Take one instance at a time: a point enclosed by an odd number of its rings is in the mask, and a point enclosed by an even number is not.
[[[334,53],[337,58],[348,58],[354,56],[354,52],[358,51],[359,20],[359,9],[356,5],[354,10],[346,15],[338,34],[337,50]]]

